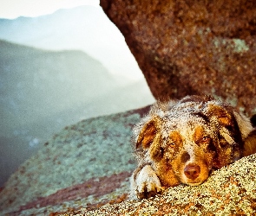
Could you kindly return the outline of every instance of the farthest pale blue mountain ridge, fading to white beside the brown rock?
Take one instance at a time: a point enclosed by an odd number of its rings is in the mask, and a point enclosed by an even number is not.
[[[0,19],[0,39],[49,50],[82,50],[100,60],[110,73],[142,79],[124,37],[101,7],[81,6],[47,16]]]

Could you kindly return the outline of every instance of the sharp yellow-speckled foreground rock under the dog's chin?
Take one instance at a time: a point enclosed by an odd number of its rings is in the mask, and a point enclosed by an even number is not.
[[[94,211],[62,215],[255,215],[256,155],[214,171],[205,183],[170,187],[148,200],[129,200]]]

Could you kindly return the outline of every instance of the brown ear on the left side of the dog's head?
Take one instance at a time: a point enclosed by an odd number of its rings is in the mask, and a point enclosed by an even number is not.
[[[154,142],[154,138],[159,130],[160,119],[153,118],[147,124],[145,124],[136,140],[136,149],[148,149],[151,143]]]

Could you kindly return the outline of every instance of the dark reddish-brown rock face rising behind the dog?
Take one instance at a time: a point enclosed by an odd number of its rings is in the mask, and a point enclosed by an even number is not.
[[[256,113],[256,2],[101,0],[155,98],[213,94]]]

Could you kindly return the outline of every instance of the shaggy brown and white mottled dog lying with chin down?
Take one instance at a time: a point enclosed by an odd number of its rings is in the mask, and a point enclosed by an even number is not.
[[[212,169],[256,152],[250,119],[210,96],[156,103],[134,134],[139,164],[131,177],[131,197],[138,199],[163,187],[200,185]]]

